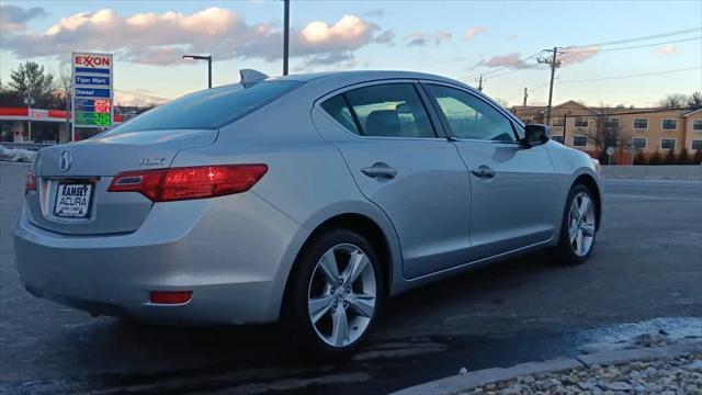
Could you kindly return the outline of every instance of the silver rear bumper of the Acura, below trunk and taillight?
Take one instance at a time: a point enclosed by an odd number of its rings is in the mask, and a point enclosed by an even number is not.
[[[155,204],[128,235],[60,235],[33,225],[23,208],[16,268],[33,295],[95,315],[268,323],[280,314],[298,229],[253,193]],[[151,304],[152,291],[192,291],[192,297]]]

